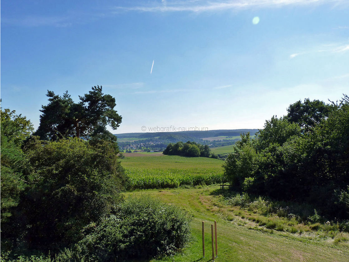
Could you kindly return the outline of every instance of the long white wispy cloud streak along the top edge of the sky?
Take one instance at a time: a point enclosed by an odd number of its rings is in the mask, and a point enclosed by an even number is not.
[[[227,1],[173,1],[162,3],[153,2],[150,5],[139,6],[114,6],[114,10],[128,10],[139,12],[210,12],[249,7],[280,7],[287,5],[313,5],[333,3],[339,5],[346,0],[227,0]]]

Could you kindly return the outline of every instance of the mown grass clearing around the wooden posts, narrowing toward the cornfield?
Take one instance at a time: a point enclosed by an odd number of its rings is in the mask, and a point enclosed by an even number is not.
[[[245,261],[349,261],[348,245],[334,245],[331,241],[310,240],[299,234],[265,233],[250,230],[236,223],[240,218],[232,209],[220,204],[219,196],[211,195],[219,186],[172,190],[142,190],[127,195],[151,195],[176,204],[193,215],[192,241],[182,253],[152,261],[207,262],[211,257],[210,225],[217,221],[217,262]],[[206,257],[202,257],[201,221],[205,221]],[[241,221],[241,220],[240,220]]]

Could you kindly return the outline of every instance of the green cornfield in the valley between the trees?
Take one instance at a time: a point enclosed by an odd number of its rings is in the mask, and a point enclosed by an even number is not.
[[[129,156],[121,159],[132,189],[176,188],[180,185],[219,183],[223,161],[176,155]]]

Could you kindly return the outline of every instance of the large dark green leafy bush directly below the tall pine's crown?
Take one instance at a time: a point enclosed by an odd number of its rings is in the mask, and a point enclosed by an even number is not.
[[[69,246],[79,240],[82,227],[110,213],[119,201],[126,177],[111,142],[32,137],[23,150],[33,174],[13,221],[21,238],[6,235],[14,246],[26,243],[28,250],[43,251]]]

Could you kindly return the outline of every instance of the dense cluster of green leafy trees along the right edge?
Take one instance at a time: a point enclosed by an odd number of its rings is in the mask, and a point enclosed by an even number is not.
[[[273,116],[252,139],[241,134],[223,165],[236,190],[314,205],[349,218],[349,97],[305,99]]]

